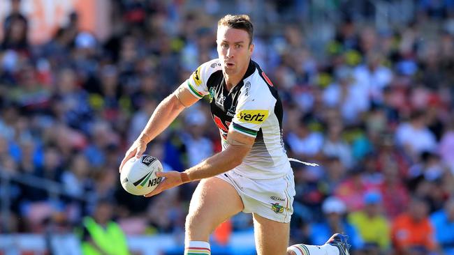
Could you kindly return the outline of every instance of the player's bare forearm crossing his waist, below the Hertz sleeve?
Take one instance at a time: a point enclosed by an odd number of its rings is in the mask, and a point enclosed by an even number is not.
[[[187,174],[188,179],[183,181],[200,180],[229,171],[240,165],[247,153],[249,153],[249,148],[229,146],[226,150],[212,155],[206,160],[203,160],[203,162],[184,171],[184,173]]]

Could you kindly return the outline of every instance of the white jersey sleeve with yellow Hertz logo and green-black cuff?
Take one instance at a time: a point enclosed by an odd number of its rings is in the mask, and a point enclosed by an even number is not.
[[[256,137],[258,130],[274,109],[275,100],[261,93],[247,93],[248,90],[246,86],[240,93],[235,116],[229,128],[249,137]]]

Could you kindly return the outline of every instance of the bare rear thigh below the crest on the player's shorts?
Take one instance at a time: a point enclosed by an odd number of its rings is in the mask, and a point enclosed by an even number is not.
[[[254,236],[258,255],[285,255],[290,223],[276,222],[254,213]]]

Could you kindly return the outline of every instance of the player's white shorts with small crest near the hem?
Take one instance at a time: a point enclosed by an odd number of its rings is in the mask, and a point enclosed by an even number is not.
[[[235,187],[244,204],[243,212],[254,212],[276,222],[290,222],[295,196],[293,171],[284,177],[265,180],[246,178],[235,170],[216,177]]]

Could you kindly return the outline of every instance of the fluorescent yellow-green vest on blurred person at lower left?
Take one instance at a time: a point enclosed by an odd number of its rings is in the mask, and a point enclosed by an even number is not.
[[[87,228],[91,239],[98,247],[103,249],[105,254],[129,255],[126,237],[117,223],[108,222],[105,229],[97,224],[91,217],[85,217],[83,223]],[[89,242],[82,242],[82,254],[101,255]]]

